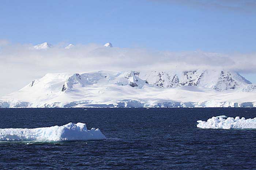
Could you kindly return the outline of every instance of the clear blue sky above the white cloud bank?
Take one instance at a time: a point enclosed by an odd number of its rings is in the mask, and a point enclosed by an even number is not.
[[[217,0],[207,5],[203,0],[179,2],[2,0],[0,37],[12,43],[110,41],[118,47],[168,51],[255,51],[253,7],[231,8],[250,0]]]

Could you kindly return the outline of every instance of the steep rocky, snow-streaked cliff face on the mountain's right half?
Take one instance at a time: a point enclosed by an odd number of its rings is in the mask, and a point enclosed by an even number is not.
[[[230,89],[242,90],[248,84],[252,84],[237,72],[225,70],[194,70],[184,72],[151,71],[140,72],[139,77],[146,80],[149,84],[154,84],[162,88],[203,86],[217,91],[225,91]]]

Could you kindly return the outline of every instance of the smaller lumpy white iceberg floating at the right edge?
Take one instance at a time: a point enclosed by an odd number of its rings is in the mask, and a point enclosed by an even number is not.
[[[202,129],[256,129],[256,118],[240,119],[239,116],[236,118],[227,118],[227,116],[217,116],[208,119],[206,122],[197,120],[197,127]]]

